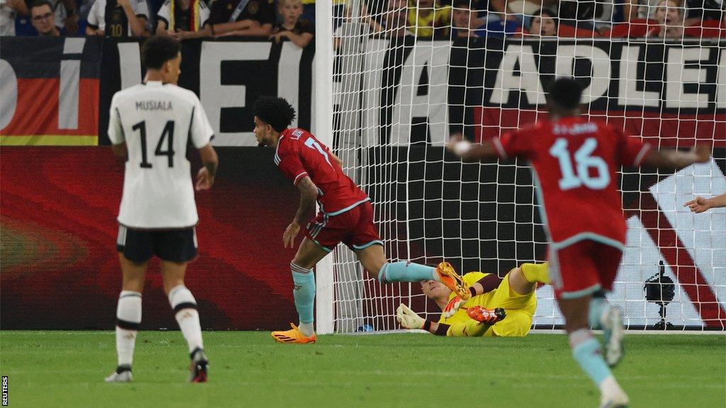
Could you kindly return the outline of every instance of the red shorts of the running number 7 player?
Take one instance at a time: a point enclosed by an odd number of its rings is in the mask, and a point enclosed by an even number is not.
[[[318,213],[303,233],[328,252],[334,250],[338,242],[343,242],[351,250],[368,248],[374,244],[383,245],[378,229],[373,224],[373,206],[370,201],[335,216]]]

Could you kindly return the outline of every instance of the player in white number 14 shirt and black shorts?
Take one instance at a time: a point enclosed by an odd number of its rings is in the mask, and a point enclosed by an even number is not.
[[[116,311],[118,367],[107,382],[131,380],[136,331],[149,259],[161,260],[164,293],[189,344],[191,378],[207,380],[197,302],[184,286],[187,262],[197,256],[195,226],[199,217],[187,160],[187,143],[201,155],[197,190],[212,187],[218,164],[213,136],[199,98],[179,88],[180,46],[167,36],[147,39],[142,62],[144,83],[116,92],[111,101],[108,136],[113,152],[128,156],[118,212],[118,258],[123,288]]]

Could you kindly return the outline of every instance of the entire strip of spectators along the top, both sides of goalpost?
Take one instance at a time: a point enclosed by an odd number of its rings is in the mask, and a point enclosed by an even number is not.
[[[319,1],[333,4],[336,46],[352,33],[726,38],[726,0]],[[0,0],[0,35],[254,36],[304,47],[314,36],[314,7],[315,0]]]

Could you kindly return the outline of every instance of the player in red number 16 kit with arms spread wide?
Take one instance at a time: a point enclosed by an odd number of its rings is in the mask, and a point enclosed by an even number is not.
[[[549,120],[482,144],[454,136],[449,148],[464,160],[529,160],[550,240],[550,281],[566,319],[572,354],[600,388],[600,407],[626,407],[628,397],[610,370],[622,356],[621,314],[605,300],[625,243],[617,171],[641,165],[683,168],[708,161],[711,150],[697,146],[690,152],[661,151],[604,123],[590,122],[579,116],[581,95],[574,79],[559,78],[547,94]],[[603,329],[604,358],[590,327]]]

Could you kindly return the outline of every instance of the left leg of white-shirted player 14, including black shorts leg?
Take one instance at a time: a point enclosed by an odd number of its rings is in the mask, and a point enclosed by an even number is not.
[[[146,232],[119,226],[116,242],[123,284],[116,307],[116,370],[106,378],[108,383],[131,381],[136,334],[141,326],[142,293],[148,259],[152,256]]]

